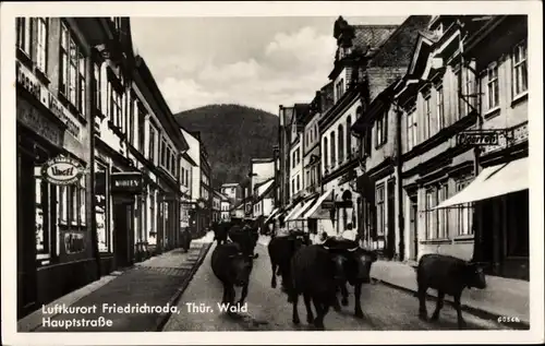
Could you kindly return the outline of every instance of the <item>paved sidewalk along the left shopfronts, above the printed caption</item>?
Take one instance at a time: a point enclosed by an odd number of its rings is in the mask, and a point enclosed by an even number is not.
[[[17,321],[19,332],[156,332],[160,331],[171,314],[165,309],[174,306],[206,256],[211,243],[192,241],[185,253],[175,249],[144,262],[136,263],[124,272],[113,272],[76,291],[59,298],[43,309]],[[105,311],[109,307],[160,307],[164,311]],[[57,313],[55,307],[66,307],[72,311]],[[75,311],[76,307],[88,311]],[[96,307],[96,308],[95,308]],[[65,313],[64,313],[65,312]],[[77,325],[94,321],[93,325]],[[106,320],[111,325],[106,325]],[[44,325],[50,323],[50,325]],[[64,323],[64,325],[60,325]],[[71,323],[70,327],[65,327]]]

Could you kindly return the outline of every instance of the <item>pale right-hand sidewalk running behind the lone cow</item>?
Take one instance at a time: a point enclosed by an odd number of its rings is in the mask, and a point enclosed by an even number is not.
[[[371,276],[386,285],[416,293],[416,272],[402,262],[377,261],[371,269]],[[498,276],[486,276],[486,289],[464,289],[462,310],[486,318],[518,318],[519,325],[530,326],[530,283]],[[437,297],[434,289],[427,293]],[[445,300],[452,302],[452,297]],[[429,308],[428,308],[429,309]]]

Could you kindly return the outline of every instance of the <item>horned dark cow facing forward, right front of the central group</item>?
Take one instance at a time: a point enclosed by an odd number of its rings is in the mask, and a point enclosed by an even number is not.
[[[363,318],[361,306],[362,285],[371,283],[371,266],[377,260],[376,253],[362,249],[354,240],[328,238],[323,244],[335,263],[335,281],[342,295],[341,303],[348,306],[347,282],[354,287],[354,315]],[[335,300],[336,310],[340,310]]]

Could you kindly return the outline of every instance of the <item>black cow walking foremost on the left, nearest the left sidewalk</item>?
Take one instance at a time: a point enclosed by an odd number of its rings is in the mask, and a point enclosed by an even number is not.
[[[211,254],[214,275],[223,284],[223,303],[232,305],[235,298],[234,286],[242,287],[238,305],[243,305],[247,296],[250,274],[253,269],[253,258],[244,254],[235,242],[219,244]]]

